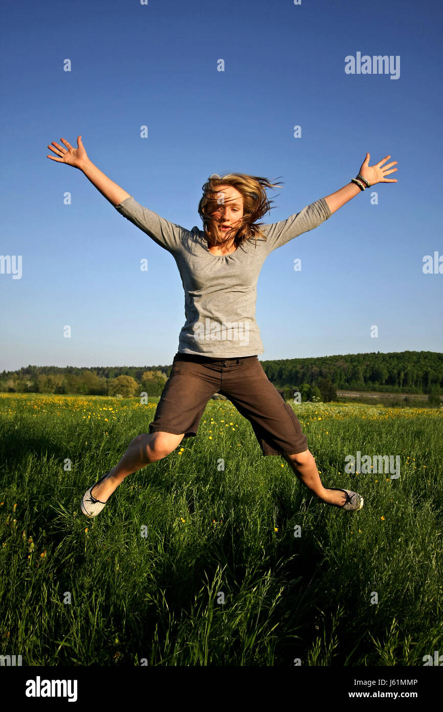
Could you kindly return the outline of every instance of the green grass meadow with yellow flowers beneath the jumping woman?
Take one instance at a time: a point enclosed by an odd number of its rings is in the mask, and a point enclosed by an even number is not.
[[[420,666],[443,653],[442,409],[294,406],[324,486],[365,499],[347,513],[210,401],[196,438],[86,518],[80,498],[149,430],[157,400],[0,394],[0,654]],[[357,451],[400,455],[400,478],[345,473]]]

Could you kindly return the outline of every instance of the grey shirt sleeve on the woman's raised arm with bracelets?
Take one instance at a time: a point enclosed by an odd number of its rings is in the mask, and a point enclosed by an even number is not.
[[[262,225],[262,231],[266,235],[267,252],[272,252],[277,247],[287,244],[294,237],[313,230],[330,218],[331,215],[332,213],[326,200],[320,198],[314,203],[306,205],[299,213],[289,216],[287,220]]]

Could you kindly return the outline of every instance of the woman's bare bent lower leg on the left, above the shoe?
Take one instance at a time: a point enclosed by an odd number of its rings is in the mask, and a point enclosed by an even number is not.
[[[183,437],[184,433],[175,435],[165,431],[137,435],[107,477],[92,488],[92,496],[100,502],[106,502],[125,477],[169,455],[181,443]]]

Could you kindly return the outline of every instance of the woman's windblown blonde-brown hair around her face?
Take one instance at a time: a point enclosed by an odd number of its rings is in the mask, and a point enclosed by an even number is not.
[[[232,241],[232,234],[228,238],[220,238],[218,233],[218,220],[213,218],[213,213],[223,204],[223,193],[218,192],[218,188],[223,185],[233,186],[243,199],[243,216],[242,220],[236,227],[234,244],[236,247],[250,238],[257,237],[266,239],[260,226],[263,223],[257,224],[268,211],[271,211],[271,203],[267,199],[265,188],[280,187],[277,183],[270,183],[267,178],[259,176],[250,176],[245,173],[228,173],[224,176],[213,174],[203,184],[203,197],[198,204],[198,214],[203,220],[203,230],[210,237],[210,241],[220,246]]]

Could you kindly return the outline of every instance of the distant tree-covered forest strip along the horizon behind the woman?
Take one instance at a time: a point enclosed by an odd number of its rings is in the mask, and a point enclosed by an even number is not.
[[[443,354],[432,351],[371,352],[261,361],[280,389],[324,394],[334,390],[443,394]],[[0,374],[0,392],[159,396],[172,365],[31,366]],[[328,390],[326,388],[326,390]],[[330,399],[329,397],[327,398]]]

